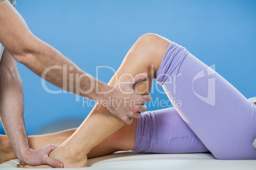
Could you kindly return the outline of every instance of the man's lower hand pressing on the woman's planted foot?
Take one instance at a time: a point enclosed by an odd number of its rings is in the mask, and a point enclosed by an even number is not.
[[[28,148],[25,151],[24,157],[19,158],[20,164],[28,164],[31,166],[40,166],[47,164],[51,167],[63,167],[62,162],[59,160],[50,159],[48,156],[52,150],[57,148],[57,145],[48,145],[46,147],[41,147],[36,150]]]

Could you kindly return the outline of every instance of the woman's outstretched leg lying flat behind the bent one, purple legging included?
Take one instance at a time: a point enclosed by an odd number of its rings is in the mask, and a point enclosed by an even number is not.
[[[29,146],[37,149],[50,144],[61,145],[75,131],[68,129],[28,136]],[[6,157],[4,162],[17,158],[5,135],[0,135],[0,150],[1,155]],[[134,119],[131,125],[123,126],[92,148],[87,156],[90,159],[120,150],[167,154],[208,152],[173,107],[145,112],[140,119]]]

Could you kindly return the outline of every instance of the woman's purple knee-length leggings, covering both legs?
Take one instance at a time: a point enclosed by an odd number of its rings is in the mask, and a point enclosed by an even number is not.
[[[256,105],[217,72],[171,42],[157,82],[174,107],[138,119],[134,151],[256,159]]]

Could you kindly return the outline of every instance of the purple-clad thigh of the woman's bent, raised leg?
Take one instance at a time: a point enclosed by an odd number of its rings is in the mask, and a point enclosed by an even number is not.
[[[256,159],[256,107],[222,76],[171,42],[157,81],[217,159]]]

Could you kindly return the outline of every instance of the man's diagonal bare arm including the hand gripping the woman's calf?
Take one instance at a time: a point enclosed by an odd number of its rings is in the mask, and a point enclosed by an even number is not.
[[[59,88],[99,101],[99,103],[102,100],[105,103],[106,101],[111,102],[110,99],[117,100],[120,105],[108,104],[106,107],[127,124],[131,124],[130,117],[139,118],[141,117],[139,112],[146,111],[145,105],[131,105],[127,102],[128,98],[130,101],[142,104],[150,100],[150,95],[141,96],[134,91],[134,82],[131,79],[129,83],[124,82],[115,88],[94,79],[57,49],[35,37],[28,29],[22,16],[7,1],[0,2],[0,42],[10,51],[15,60]],[[57,69],[49,69],[52,66],[57,66]],[[65,74],[63,73],[64,67],[67,68]],[[70,74],[74,75],[74,81],[69,80]],[[143,81],[146,77],[147,75],[144,74],[138,75],[137,78]],[[97,93],[97,91],[110,92]],[[128,91],[129,94],[122,93],[122,91]]]

